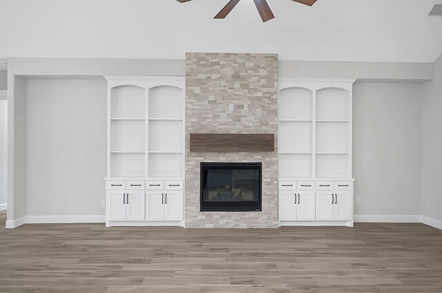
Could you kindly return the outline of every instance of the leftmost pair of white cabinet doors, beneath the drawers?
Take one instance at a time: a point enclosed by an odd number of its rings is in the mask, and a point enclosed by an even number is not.
[[[144,220],[144,191],[110,190],[106,202],[106,220]]]

